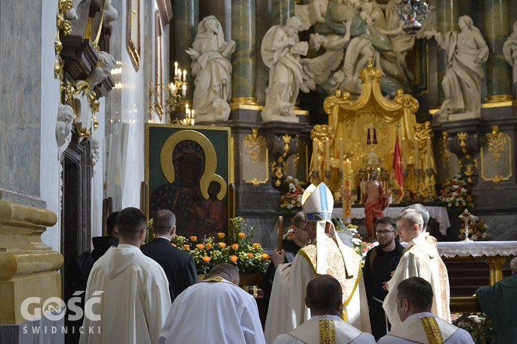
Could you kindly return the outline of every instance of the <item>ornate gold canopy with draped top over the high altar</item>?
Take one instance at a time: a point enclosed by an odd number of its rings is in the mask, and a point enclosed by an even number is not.
[[[419,142],[420,147],[420,194],[423,198],[428,195],[429,179],[425,173],[428,169],[426,140],[430,137],[432,140],[432,129],[430,123],[420,125],[416,123],[415,114],[418,110],[418,100],[409,94],[404,94],[402,89],[398,89],[394,100],[386,100],[381,92],[381,70],[373,67],[372,59],[369,59],[367,67],[363,68],[360,73],[362,80],[362,92],[356,100],[349,99],[348,92],[341,92],[337,89],[333,96],[329,96],[323,102],[323,108],[329,115],[329,128],[327,133],[332,134],[330,139],[330,166],[332,177],[330,178],[330,189],[333,192],[341,191],[341,180],[338,177],[340,140],[343,140],[344,159],[347,158],[352,162],[354,170],[353,189],[358,185],[360,171],[364,175],[366,169],[373,167],[384,171],[384,180],[387,181],[392,173],[392,164],[395,151],[395,140],[397,130],[399,133],[399,142],[405,138],[407,142],[407,169],[409,169],[409,177],[407,178],[407,189],[412,193],[416,193],[416,181],[414,178],[414,147],[415,142]],[[325,126],[326,127],[326,126]],[[313,129],[311,137],[318,140],[318,160],[320,162],[320,175],[324,174],[323,163],[324,155],[324,138],[321,130],[318,135]],[[320,128],[321,129],[321,128]],[[416,129],[419,132],[416,132]],[[369,135],[369,140],[368,139]],[[374,143],[376,139],[376,144]],[[372,151],[379,159],[378,166],[372,166],[367,163],[368,155],[372,157]],[[371,159],[370,159],[371,161]],[[431,169],[436,171],[434,157],[431,157]],[[311,165],[314,166],[314,165]],[[434,174],[432,175],[432,186],[434,189]],[[393,182],[392,182],[393,183]],[[394,182],[396,184],[396,182]],[[393,185],[393,184],[392,184]],[[391,189],[385,184],[386,189]]]

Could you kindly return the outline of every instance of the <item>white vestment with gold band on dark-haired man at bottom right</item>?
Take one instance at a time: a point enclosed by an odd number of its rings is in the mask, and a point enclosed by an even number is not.
[[[446,343],[474,344],[469,332],[429,312],[410,315],[383,336],[378,344]]]

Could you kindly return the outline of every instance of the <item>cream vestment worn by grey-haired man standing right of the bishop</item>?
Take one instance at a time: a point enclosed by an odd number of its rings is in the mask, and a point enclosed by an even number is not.
[[[396,310],[397,286],[398,283],[409,277],[421,277],[431,284],[433,288],[431,312],[438,318],[450,321],[447,267],[438,254],[436,244],[432,240],[426,239],[425,235],[420,235],[409,241],[392,279],[388,282],[389,289],[383,302],[383,308],[389,323],[392,324],[392,329],[401,324]]]

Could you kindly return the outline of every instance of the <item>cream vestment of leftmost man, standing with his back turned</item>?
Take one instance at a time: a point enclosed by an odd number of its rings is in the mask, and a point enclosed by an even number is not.
[[[156,261],[133,245],[111,247],[88,277],[79,343],[157,343],[170,305],[169,282]]]

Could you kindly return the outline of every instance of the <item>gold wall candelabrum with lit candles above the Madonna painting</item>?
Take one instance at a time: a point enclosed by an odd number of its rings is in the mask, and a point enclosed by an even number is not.
[[[183,80],[182,80],[183,78]],[[149,87],[149,107],[151,111],[161,119],[163,115],[170,117],[176,111],[176,107],[185,105],[185,120],[179,120],[181,124],[194,124],[194,110],[190,111],[185,104],[187,94],[187,70],[178,68],[178,63],[174,63],[174,80],[168,84],[156,84]],[[153,103],[154,99],[154,103]],[[187,111],[189,110],[189,111]],[[174,122],[174,121],[173,121]]]

